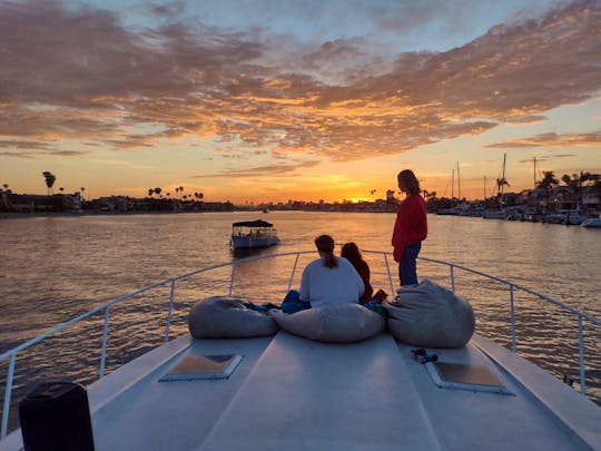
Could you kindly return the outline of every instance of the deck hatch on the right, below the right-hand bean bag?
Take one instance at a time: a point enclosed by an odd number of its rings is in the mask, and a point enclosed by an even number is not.
[[[425,366],[434,383],[444,389],[513,394],[499,375],[485,365],[427,362]]]

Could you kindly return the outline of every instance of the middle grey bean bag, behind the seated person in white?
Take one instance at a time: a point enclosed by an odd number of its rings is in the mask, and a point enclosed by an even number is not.
[[[354,303],[272,314],[286,332],[326,343],[358,342],[378,334],[386,325],[382,315]]]

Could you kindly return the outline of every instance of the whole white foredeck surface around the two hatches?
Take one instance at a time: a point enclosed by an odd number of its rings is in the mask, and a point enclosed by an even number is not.
[[[499,367],[486,353],[516,371]],[[514,395],[439,389],[391,335],[324,344],[188,335],[89,390],[97,450],[579,450],[601,448],[601,410],[535,365],[475,337],[441,360],[485,364]],[[243,354],[226,380],[159,382],[186,355]],[[544,379],[552,381],[544,384]],[[545,393],[535,398],[529,379]],[[564,392],[565,391],[565,392]],[[561,406],[563,405],[563,408]],[[563,410],[562,410],[563,409]],[[19,449],[20,432],[0,449]]]

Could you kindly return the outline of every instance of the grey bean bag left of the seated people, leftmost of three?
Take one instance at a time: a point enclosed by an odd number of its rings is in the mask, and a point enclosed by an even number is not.
[[[191,307],[188,329],[195,339],[246,339],[273,335],[278,331],[265,312],[248,308],[242,300],[215,296]]]

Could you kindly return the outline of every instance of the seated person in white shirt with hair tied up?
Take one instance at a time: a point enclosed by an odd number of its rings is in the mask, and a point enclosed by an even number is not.
[[[298,294],[300,303],[309,303],[312,307],[357,303],[365,286],[353,265],[346,258],[334,255],[334,239],[331,236],[317,237],[315,245],[319,258],[303,271]],[[282,310],[286,312],[284,303]]]

